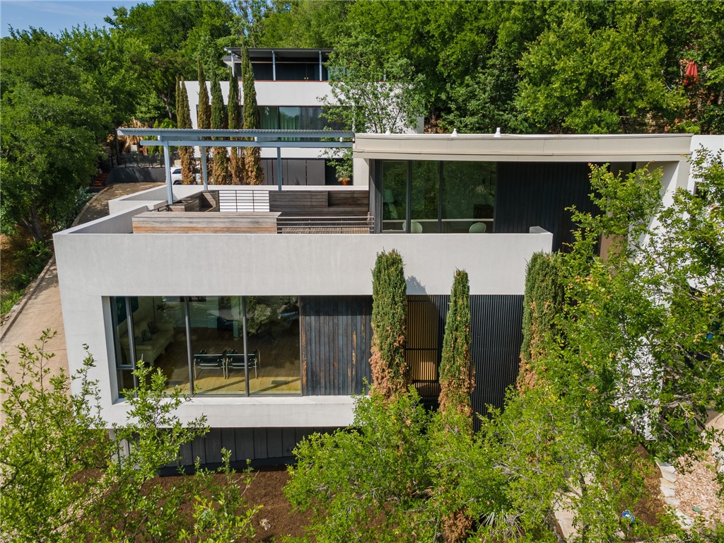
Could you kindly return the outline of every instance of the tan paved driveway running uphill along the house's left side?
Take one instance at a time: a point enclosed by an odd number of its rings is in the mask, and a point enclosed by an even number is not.
[[[159,185],[160,183],[119,183],[106,187],[93,196],[78,215],[75,224],[83,224],[106,216],[109,200]],[[46,345],[46,351],[55,353],[50,363],[51,371],[57,372],[62,369],[67,373],[68,358],[55,258],[51,259],[38,279],[28,287],[9,319],[0,326],[0,351],[8,353],[11,368],[17,369],[15,364],[20,360],[16,346],[21,343],[35,345],[45,329],[57,332],[56,337]],[[2,399],[4,398],[0,398]],[[0,416],[0,424],[3,421],[4,415]]]

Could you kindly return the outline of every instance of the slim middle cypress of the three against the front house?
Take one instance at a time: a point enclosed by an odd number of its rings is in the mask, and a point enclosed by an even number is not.
[[[440,363],[440,411],[460,413],[469,418],[473,429],[473,372],[470,367],[470,285],[468,272],[455,271],[450,307],[447,309],[445,336]]]

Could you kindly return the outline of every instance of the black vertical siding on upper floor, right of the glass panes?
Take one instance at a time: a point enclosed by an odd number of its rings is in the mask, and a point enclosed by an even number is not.
[[[495,232],[527,233],[539,226],[553,233],[553,250],[571,243],[570,206],[597,213],[589,194],[591,169],[584,163],[499,162]]]

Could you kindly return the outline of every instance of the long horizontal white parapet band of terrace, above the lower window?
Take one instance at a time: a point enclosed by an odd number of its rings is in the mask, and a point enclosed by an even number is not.
[[[409,294],[448,292],[455,269],[470,273],[471,294],[521,294],[526,261],[550,251],[552,240],[547,233],[125,233],[140,211],[56,234],[61,288],[88,295],[371,295],[376,254],[394,248],[405,261]],[[116,228],[122,233],[101,233]],[[96,235],[78,235],[85,233]]]

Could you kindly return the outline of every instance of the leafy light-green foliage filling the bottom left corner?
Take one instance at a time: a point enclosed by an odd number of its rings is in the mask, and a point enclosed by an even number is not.
[[[203,418],[182,424],[188,398],[167,392],[166,377],[135,370],[139,386],[124,391],[125,424],[114,439],[101,418],[98,384],[88,379],[93,357],[70,380],[51,374],[43,333],[35,348],[20,345],[20,363],[0,355],[4,424],[0,426],[0,531],[12,541],[70,543],[252,541],[253,515],[242,489],[250,479],[229,468],[220,477],[161,482],[157,473],[180,458],[180,446],[208,429]],[[16,371],[19,369],[20,371]],[[127,443],[127,447],[124,445]],[[125,450],[124,450],[125,449]],[[190,507],[185,504],[190,502]]]

